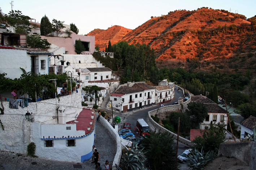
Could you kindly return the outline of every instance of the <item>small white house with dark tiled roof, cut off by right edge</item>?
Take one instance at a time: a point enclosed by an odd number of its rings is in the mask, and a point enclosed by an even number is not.
[[[250,116],[240,124],[242,125],[241,126],[241,139],[242,139],[244,138],[244,135],[253,134],[253,128],[255,128],[256,126],[256,117]]]

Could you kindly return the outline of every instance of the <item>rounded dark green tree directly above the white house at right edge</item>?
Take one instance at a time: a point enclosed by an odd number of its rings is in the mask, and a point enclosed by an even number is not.
[[[235,113],[240,114],[246,120],[250,116],[256,116],[256,107],[250,103],[240,104],[235,110]]]

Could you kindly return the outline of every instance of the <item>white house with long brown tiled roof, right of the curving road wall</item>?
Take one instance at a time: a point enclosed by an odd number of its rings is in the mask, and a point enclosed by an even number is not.
[[[211,99],[203,95],[191,96],[191,102],[203,103],[207,108],[208,115],[204,122],[200,124],[200,129],[208,129],[211,121],[213,124],[218,124],[218,122],[224,122],[225,128],[227,128],[227,111],[220,107],[218,104],[213,102]]]

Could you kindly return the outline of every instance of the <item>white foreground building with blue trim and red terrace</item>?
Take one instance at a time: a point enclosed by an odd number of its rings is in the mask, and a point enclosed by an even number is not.
[[[79,162],[91,158],[96,115],[91,109],[81,108],[80,89],[78,93],[73,91],[72,95],[60,97],[59,102],[57,98],[48,99],[12,109],[8,101],[3,101],[3,106],[1,151],[26,154],[27,146],[34,142],[36,156]],[[27,112],[31,113],[33,122],[25,118]]]

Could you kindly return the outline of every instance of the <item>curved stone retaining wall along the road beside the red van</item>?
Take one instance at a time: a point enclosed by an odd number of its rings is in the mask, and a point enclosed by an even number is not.
[[[175,134],[175,133],[165,129],[161,125],[157,124],[157,122],[155,122],[151,118],[151,116],[155,116],[155,114],[162,113],[162,112],[165,112],[165,111],[177,111],[178,108],[179,108],[179,105],[170,105],[170,106],[160,107],[158,109],[155,109],[155,110],[152,110],[152,111],[148,112],[147,121],[149,122],[150,130],[152,130],[152,131],[155,131],[155,130],[157,130],[157,131],[159,131],[159,130],[160,131],[168,131],[170,134],[174,135],[175,139],[177,139],[177,134]],[[183,144],[186,144],[189,147],[194,146],[194,144],[190,140],[187,140],[187,139],[182,138],[182,137],[179,137],[179,142],[181,142]]]

